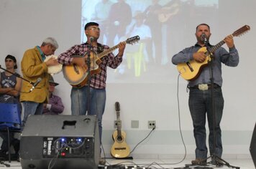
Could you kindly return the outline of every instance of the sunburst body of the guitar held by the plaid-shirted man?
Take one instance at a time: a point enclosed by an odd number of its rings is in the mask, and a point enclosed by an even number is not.
[[[73,56],[73,57],[80,57],[80,56]],[[85,57],[85,59],[87,56]],[[99,64],[101,60],[97,60],[97,54],[91,52],[91,67],[90,67],[90,74],[97,74],[101,72],[99,68]],[[70,85],[73,87],[83,87],[86,85],[88,81],[88,69],[87,67],[79,67],[76,64],[71,65],[63,65],[63,75],[65,79],[68,81]]]

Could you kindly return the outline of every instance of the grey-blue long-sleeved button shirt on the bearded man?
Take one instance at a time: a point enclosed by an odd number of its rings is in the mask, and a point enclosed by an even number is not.
[[[212,46],[210,45],[210,47]],[[175,54],[173,56],[172,58],[173,64],[179,64],[179,63],[189,62],[193,60],[193,53],[197,52],[198,49],[200,48],[201,46],[196,43],[195,46],[183,49],[178,54]],[[221,77],[221,63],[229,67],[236,67],[239,63],[239,54],[237,52],[237,49],[233,47],[229,49],[229,52],[227,52],[227,50],[224,49],[223,47],[219,47],[219,49],[216,49],[216,51],[214,52],[214,62],[213,62],[214,83],[218,84],[220,87],[222,86],[222,82],[223,82],[223,79]],[[211,70],[209,65],[202,68],[199,77],[197,77],[193,81],[189,81],[188,86],[196,86],[198,84],[211,84],[210,71]]]

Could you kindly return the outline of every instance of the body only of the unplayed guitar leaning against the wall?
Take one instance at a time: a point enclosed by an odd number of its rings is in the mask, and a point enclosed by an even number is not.
[[[114,140],[114,144],[111,147],[111,155],[114,158],[127,158],[129,156],[129,145],[127,145],[126,133],[124,131],[121,132],[121,137],[118,136],[118,131],[114,131],[112,138]]]

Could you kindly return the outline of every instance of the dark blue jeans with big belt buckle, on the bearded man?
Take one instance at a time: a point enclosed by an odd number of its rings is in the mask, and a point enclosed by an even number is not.
[[[210,154],[217,155],[221,158],[222,155],[222,143],[221,143],[221,117],[224,107],[224,99],[222,96],[221,87],[214,88],[214,114],[216,117],[216,148],[214,152],[214,131],[213,131],[213,111],[211,105],[211,89],[198,90],[190,89],[189,92],[189,109],[193,120],[193,135],[196,140],[196,158],[207,158],[206,147],[206,112],[207,120],[209,124],[209,150]]]

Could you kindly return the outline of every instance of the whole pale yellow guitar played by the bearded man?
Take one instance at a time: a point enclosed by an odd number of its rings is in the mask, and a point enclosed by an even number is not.
[[[249,30],[250,30],[250,26],[244,25],[240,29],[237,29],[237,31],[235,31],[232,34],[232,37],[238,37]],[[216,44],[214,47],[210,47],[209,49],[206,49],[206,47],[201,47],[198,50],[198,52],[204,52],[204,55],[206,57],[204,62],[199,63],[193,59],[189,62],[178,64],[177,69],[178,69],[178,72],[180,73],[180,76],[186,80],[196,79],[201,73],[201,69],[206,67],[209,61],[211,61],[210,55],[213,54],[216,51],[216,49],[221,47],[223,44],[225,44],[225,42],[222,40],[221,42]]]

